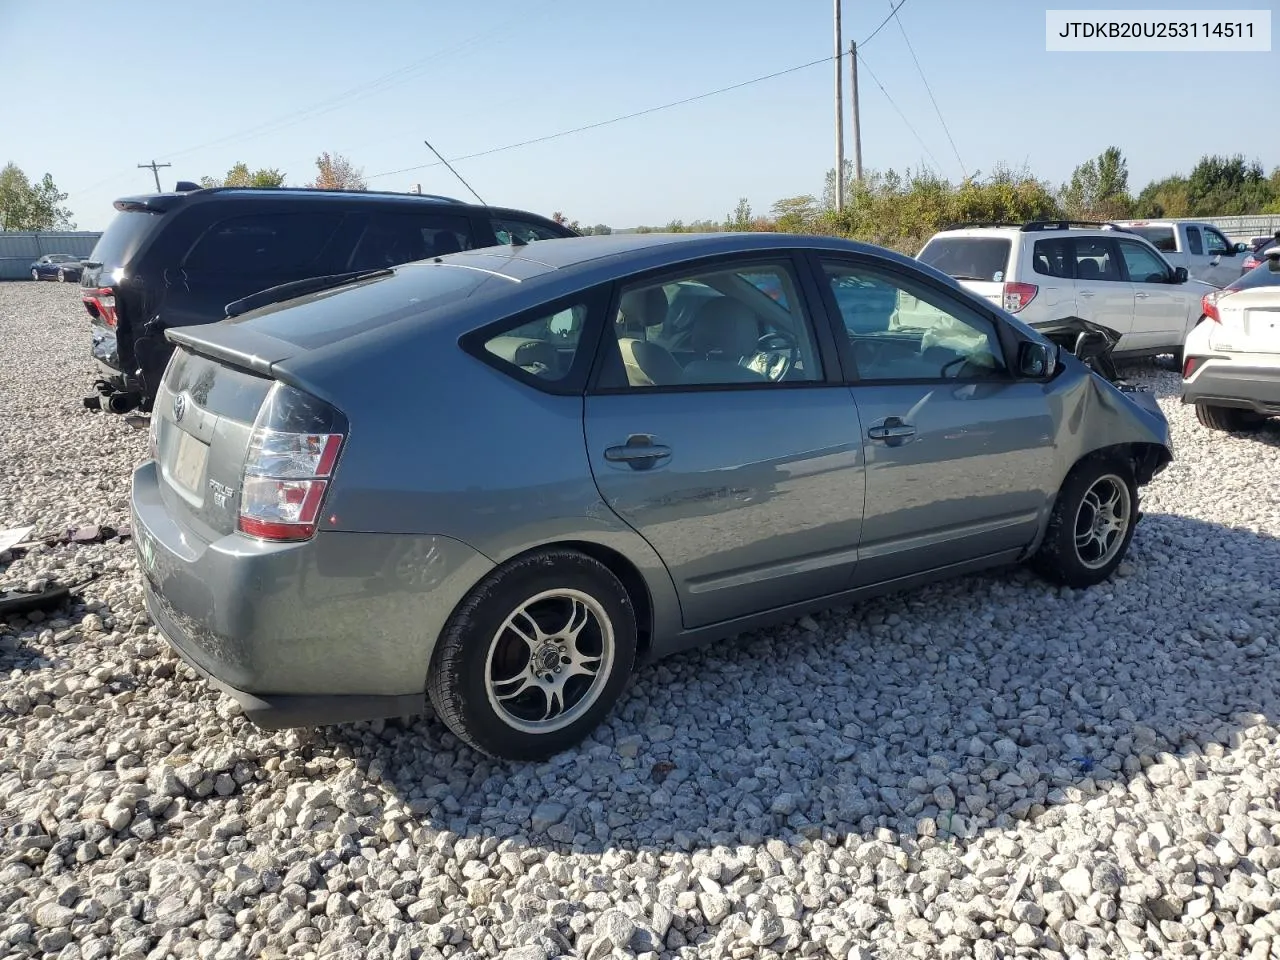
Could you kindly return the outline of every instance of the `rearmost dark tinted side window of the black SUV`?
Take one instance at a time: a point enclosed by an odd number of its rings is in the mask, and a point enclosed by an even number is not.
[[[259,214],[214,224],[183,268],[202,273],[280,274],[315,262],[342,214]]]

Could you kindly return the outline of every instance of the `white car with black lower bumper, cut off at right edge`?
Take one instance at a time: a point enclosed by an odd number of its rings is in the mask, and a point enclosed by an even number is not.
[[[1187,338],[1183,403],[1215,430],[1280,416],[1280,247],[1204,298],[1204,319]]]

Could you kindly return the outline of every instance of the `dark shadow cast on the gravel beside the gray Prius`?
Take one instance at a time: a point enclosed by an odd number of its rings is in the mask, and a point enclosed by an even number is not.
[[[1277,568],[1280,540],[1148,515],[1121,575],[1089,590],[997,571],[648,666],[547,763],[479,756],[434,717],[302,750],[353,755],[404,829],[586,852],[966,837],[1280,716]]]

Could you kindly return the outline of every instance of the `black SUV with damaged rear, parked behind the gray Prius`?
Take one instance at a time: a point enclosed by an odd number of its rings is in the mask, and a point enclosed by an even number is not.
[[[201,189],[125,197],[84,262],[97,396],[124,413],[151,401],[173,352],[164,332],[210,324],[228,303],[320,276],[460,250],[577,234],[536,214],[417,193]]]

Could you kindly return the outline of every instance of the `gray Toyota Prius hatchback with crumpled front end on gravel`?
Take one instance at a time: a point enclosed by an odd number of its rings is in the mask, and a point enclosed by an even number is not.
[[[1097,584],[1171,458],[1149,394],[840,239],[548,239],[227,315],[168,333],[133,529],[160,630],[268,728],[430,700],[545,758],[692,644],[997,564]]]

